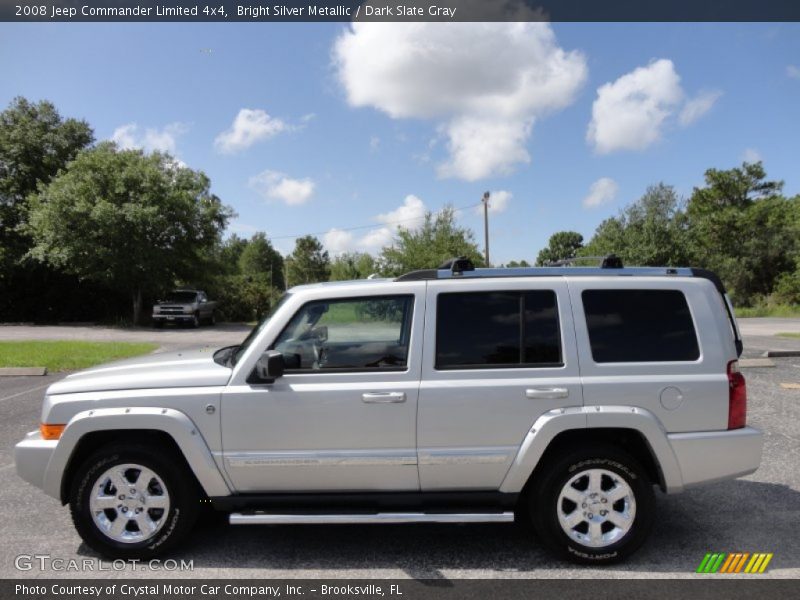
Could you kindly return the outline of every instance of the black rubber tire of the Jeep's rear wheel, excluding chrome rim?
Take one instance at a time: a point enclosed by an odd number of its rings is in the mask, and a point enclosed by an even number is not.
[[[559,496],[562,489],[565,489],[565,486],[574,477],[590,469],[596,472],[602,470],[619,477],[627,484],[635,502],[635,515],[630,528],[619,539],[610,540],[607,545],[602,547],[592,547],[578,542],[566,533],[559,521]],[[579,564],[596,566],[611,564],[623,560],[635,552],[647,539],[655,516],[653,484],[641,464],[619,448],[606,444],[590,444],[563,457],[550,460],[536,472],[535,477],[536,479],[531,482],[529,493],[524,496],[530,511],[530,520],[545,547],[560,558]],[[575,485],[580,485],[583,481],[584,479],[578,479]],[[588,484],[588,475],[585,481]],[[609,489],[614,485],[608,475],[602,475],[601,481],[602,485]],[[573,489],[575,488],[573,487]],[[624,501],[623,504],[614,502],[607,504],[610,500],[604,496],[601,496],[600,499],[606,504],[596,504],[593,509],[589,502],[586,512],[583,511],[583,504],[578,506],[572,503],[573,507],[569,500],[562,500],[560,508],[565,514],[567,510],[577,510],[581,511],[582,515],[588,514],[597,518],[596,514],[589,511],[595,510],[597,513],[600,509],[605,509],[607,513],[609,507],[621,510],[620,507],[624,506]],[[595,498],[592,502],[599,502],[600,499]],[[602,527],[613,529],[616,525],[609,523],[608,525],[602,524]],[[584,536],[585,539],[588,537],[588,520],[571,529],[571,532],[573,535],[582,534],[584,528],[587,534]],[[603,533],[605,535],[608,532],[603,531]],[[613,536],[614,532],[612,531],[609,535]]]

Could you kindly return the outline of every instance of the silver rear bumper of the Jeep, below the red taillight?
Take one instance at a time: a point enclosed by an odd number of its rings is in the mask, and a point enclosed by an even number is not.
[[[764,434],[753,427],[673,433],[668,437],[684,487],[749,475],[761,464]]]

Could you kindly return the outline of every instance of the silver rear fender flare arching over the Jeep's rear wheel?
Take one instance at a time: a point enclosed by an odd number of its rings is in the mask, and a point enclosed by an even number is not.
[[[683,491],[683,477],[667,433],[648,410],[631,406],[576,406],[555,409],[536,419],[506,473],[500,491],[522,491],[531,473],[555,437],[573,429],[632,429],[644,437],[658,466],[664,491]]]

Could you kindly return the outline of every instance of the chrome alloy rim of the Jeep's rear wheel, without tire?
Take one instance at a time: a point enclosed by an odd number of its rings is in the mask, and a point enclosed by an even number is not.
[[[606,469],[587,469],[573,476],[558,495],[558,522],[575,542],[603,548],[630,531],[636,499],[628,483]]]

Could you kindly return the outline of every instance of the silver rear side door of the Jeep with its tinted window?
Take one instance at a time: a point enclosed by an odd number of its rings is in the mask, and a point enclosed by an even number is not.
[[[536,419],[580,406],[562,278],[428,283],[417,422],[423,490],[496,490]]]

